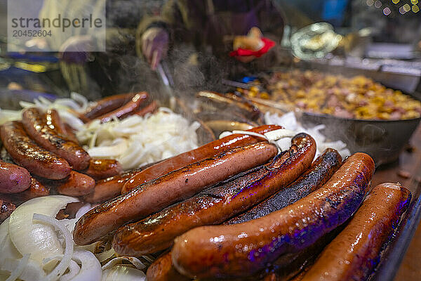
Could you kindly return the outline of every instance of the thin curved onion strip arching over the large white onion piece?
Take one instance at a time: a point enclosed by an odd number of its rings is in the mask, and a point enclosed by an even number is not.
[[[56,218],[52,218],[51,216],[45,216],[43,214],[34,214],[34,220],[43,221],[44,223],[51,224],[55,228],[58,228],[62,232],[62,235],[65,237],[65,254],[63,254],[63,258],[58,263],[51,273],[48,273],[46,276],[46,280],[57,280],[63,273],[65,273],[66,269],[69,267],[70,260],[72,259],[73,255],[73,239],[72,235],[70,234],[69,230],[58,221]]]

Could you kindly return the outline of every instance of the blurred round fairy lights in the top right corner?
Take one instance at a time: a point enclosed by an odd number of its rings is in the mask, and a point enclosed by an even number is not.
[[[420,12],[418,0],[366,0],[367,6],[373,6],[382,9],[383,14],[387,16],[415,14]]]

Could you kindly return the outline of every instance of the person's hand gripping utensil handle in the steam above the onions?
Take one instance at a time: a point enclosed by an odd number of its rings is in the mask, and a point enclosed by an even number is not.
[[[141,39],[142,53],[152,70],[168,53],[168,32],[160,27],[151,27],[146,30]]]

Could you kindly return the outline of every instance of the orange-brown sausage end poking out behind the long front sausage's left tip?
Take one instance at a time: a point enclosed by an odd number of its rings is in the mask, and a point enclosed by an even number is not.
[[[121,188],[124,183],[131,179],[139,170],[128,171],[121,175],[111,176],[97,181],[93,192],[89,193],[83,199],[90,203],[102,203],[121,195]]]

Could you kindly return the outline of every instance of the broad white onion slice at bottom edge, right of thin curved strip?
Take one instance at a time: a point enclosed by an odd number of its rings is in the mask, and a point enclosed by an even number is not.
[[[74,251],[73,259],[81,263],[81,270],[72,278],[72,281],[101,280],[101,264],[91,251]]]

